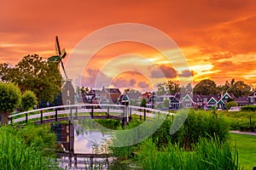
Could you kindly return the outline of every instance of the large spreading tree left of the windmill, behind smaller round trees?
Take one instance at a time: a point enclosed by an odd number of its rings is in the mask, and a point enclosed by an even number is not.
[[[61,93],[61,73],[58,64],[38,56],[26,55],[14,68],[7,64],[0,65],[0,77],[3,82],[15,82],[22,93],[26,90],[37,95],[41,100],[53,102]]]

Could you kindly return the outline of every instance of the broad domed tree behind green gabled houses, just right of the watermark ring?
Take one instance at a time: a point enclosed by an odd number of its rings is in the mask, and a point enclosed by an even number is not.
[[[194,94],[210,95],[218,94],[216,83],[210,79],[205,79],[195,85]]]

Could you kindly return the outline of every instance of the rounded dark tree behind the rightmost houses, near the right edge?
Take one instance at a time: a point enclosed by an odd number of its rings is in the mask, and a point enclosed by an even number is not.
[[[232,87],[229,89],[229,92],[234,94],[237,97],[239,96],[247,96],[250,94],[251,87],[247,85],[245,82],[238,81],[235,82]]]

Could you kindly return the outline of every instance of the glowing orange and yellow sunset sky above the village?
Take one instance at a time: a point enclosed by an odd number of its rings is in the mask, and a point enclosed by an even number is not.
[[[114,24],[137,23],[171,37],[189,70],[166,65],[160,52],[145,44],[113,43],[97,51],[84,67],[84,86],[92,86],[90,81],[102,74],[105,79],[112,77],[113,87],[148,88],[150,83],[160,82],[160,75],[154,75],[160,69],[167,80],[177,81],[192,74],[194,85],[206,78],[218,84],[235,78],[256,87],[255,8],[254,0],[3,0],[0,63],[16,65],[26,54],[49,58],[55,54],[58,36],[61,48],[67,50],[67,64],[71,54],[78,52],[75,49],[79,42],[92,32]],[[173,56],[177,53],[177,48],[165,50]],[[80,59],[73,58],[72,62],[79,63]],[[128,64],[130,71],[124,70]],[[68,71],[67,74],[72,75]]]

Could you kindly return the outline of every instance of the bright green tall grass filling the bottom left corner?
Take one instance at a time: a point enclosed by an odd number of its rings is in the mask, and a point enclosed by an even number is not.
[[[34,143],[26,144],[13,127],[0,128],[1,169],[58,169],[55,162],[38,149]]]

